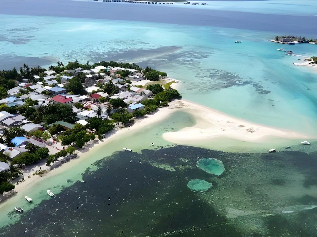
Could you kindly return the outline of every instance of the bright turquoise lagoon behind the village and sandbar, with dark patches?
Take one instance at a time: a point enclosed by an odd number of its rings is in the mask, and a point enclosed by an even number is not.
[[[315,45],[268,41],[279,32],[208,26],[9,15],[0,21],[0,65],[136,62],[183,81],[178,89],[184,99],[316,136],[317,73],[276,50],[308,57],[316,54]]]

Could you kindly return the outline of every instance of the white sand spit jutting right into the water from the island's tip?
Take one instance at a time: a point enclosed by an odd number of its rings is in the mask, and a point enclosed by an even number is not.
[[[191,144],[191,141],[211,141],[211,139],[219,137],[247,142],[261,142],[272,137],[282,139],[308,138],[307,135],[299,134],[296,131],[270,128],[248,122],[185,100],[174,101],[171,106],[179,107],[179,110],[191,114],[197,122],[193,127],[163,134],[163,138],[172,143]]]

